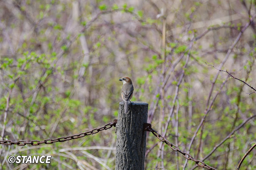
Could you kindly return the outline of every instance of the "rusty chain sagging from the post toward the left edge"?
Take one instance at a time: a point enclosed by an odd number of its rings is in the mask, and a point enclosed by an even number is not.
[[[43,141],[39,141],[39,140],[31,140],[30,142],[26,142],[25,140],[19,140],[17,142],[13,142],[12,140],[5,140],[5,141],[0,141],[0,144],[2,145],[18,145],[18,146],[24,146],[26,144],[30,144],[30,145],[40,145],[42,143],[44,144],[51,144],[51,143],[55,143],[55,142],[64,142],[67,140],[71,140],[71,139],[78,139],[87,135],[92,135],[95,133],[98,133],[100,131],[103,130],[107,130],[112,128],[112,126],[116,126],[117,123],[117,119],[115,119],[113,122],[105,124],[104,126],[102,126],[101,128],[95,128],[91,131],[87,131],[87,132],[83,132],[80,134],[76,134],[76,135],[71,135],[71,136],[66,136],[66,137],[59,137],[56,139],[45,139]]]

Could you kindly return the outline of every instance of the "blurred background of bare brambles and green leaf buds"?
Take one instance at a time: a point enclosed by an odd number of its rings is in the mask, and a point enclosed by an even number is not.
[[[210,166],[236,168],[256,141],[255,119],[238,129],[256,114],[256,94],[204,62],[255,87],[255,5],[254,0],[1,0],[0,140],[41,141],[112,122],[122,101],[118,79],[128,76],[132,101],[149,103],[153,129]],[[114,169],[115,140],[111,128],[51,145],[1,145],[0,165]],[[152,134],[147,149],[147,170],[195,168]],[[52,155],[52,161],[9,164],[11,155]],[[242,169],[256,169],[255,156],[253,150]]]

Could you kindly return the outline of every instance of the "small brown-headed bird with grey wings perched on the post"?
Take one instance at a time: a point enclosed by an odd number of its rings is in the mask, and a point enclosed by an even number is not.
[[[124,103],[125,103],[125,113],[128,113],[128,103],[133,96],[132,81],[129,77],[126,77],[126,76],[119,79],[119,81],[123,82],[122,99],[124,100]]]

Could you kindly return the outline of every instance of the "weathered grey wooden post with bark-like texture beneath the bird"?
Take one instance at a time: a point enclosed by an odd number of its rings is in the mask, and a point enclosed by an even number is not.
[[[144,170],[148,103],[129,102],[128,113],[124,113],[124,102],[119,103],[116,124],[115,170]]]

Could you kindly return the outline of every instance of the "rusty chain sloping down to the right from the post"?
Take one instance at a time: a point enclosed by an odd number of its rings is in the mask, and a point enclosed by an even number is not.
[[[189,153],[187,152],[183,152],[182,150],[180,150],[179,147],[173,145],[171,142],[169,142],[168,140],[166,140],[165,137],[162,137],[157,131],[155,131],[154,129],[151,128],[151,124],[149,123],[144,123],[144,130],[148,131],[148,132],[152,132],[153,135],[155,135],[159,140],[161,140],[162,142],[166,143],[172,150],[176,151],[176,152],[180,152],[182,154],[182,156],[188,160],[193,160],[197,166],[202,167],[202,168],[206,168],[209,170],[217,170],[213,167],[210,167],[209,165],[206,165],[204,162],[202,162],[201,160],[198,159],[194,159]],[[174,148],[173,148],[174,147]]]

